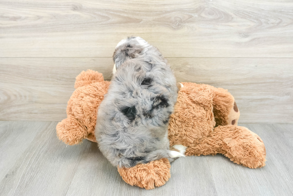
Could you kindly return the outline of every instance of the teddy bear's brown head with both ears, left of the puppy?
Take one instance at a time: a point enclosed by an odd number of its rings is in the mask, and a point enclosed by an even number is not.
[[[81,72],[74,83],[75,91],[67,103],[67,118],[57,124],[57,136],[68,145],[75,145],[88,139],[96,141],[94,129],[97,108],[108,92],[110,82],[93,70]]]

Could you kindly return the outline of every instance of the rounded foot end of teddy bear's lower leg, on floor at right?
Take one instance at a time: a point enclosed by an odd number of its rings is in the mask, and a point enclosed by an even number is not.
[[[231,161],[249,168],[265,166],[265,145],[260,137],[246,127],[218,126],[212,139],[219,146],[219,153]]]

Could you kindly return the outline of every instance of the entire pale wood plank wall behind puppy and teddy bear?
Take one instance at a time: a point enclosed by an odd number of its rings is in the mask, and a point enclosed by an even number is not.
[[[111,78],[127,36],[178,81],[229,89],[239,123],[293,122],[293,2],[0,0],[0,120],[61,121],[75,77]]]

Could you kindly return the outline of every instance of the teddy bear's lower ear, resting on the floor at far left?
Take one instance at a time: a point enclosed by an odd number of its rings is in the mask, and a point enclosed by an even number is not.
[[[87,137],[86,126],[80,124],[74,116],[69,115],[56,126],[57,136],[67,145],[82,142]]]

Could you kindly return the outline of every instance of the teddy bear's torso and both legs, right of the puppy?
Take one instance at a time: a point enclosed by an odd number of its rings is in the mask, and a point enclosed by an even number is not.
[[[263,141],[247,128],[236,126],[240,112],[227,90],[206,84],[182,84],[170,117],[171,146],[186,146],[187,156],[219,153],[249,168],[265,166]],[[231,118],[235,116],[233,123]]]

